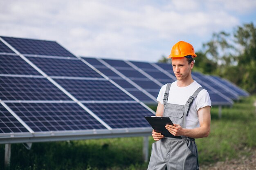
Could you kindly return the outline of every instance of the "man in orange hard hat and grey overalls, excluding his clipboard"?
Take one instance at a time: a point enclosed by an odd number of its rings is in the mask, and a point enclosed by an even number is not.
[[[194,138],[210,133],[211,100],[208,92],[191,76],[196,57],[191,44],[180,41],[171,49],[173,72],[177,81],[162,86],[157,97],[156,116],[170,117],[165,128],[179,138],[164,137],[153,130],[156,141],[148,170],[198,170],[198,152]]]

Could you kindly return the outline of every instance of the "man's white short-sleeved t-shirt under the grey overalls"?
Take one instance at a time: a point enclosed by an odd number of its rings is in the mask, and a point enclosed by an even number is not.
[[[157,97],[157,101],[161,104],[164,104],[163,99],[166,86],[167,84],[162,86]],[[192,96],[199,87],[201,87],[201,85],[196,81],[186,87],[179,87],[177,86],[177,81],[173,82],[169,91],[168,103],[185,105],[189,97]],[[203,89],[198,93],[197,97],[195,97],[193,104],[191,105],[189,115],[186,117],[186,128],[193,129],[200,127],[198,110],[205,106],[211,106],[211,99],[207,90]]]

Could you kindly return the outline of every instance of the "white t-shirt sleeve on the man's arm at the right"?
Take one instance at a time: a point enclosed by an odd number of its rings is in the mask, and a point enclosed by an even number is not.
[[[196,110],[198,111],[200,108],[205,106],[211,107],[211,99],[207,90],[203,89],[198,93]]]

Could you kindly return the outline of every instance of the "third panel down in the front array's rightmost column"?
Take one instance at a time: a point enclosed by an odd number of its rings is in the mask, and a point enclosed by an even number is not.
[[[133,100],[114,84],[105,80],[54,79],[78,100]]]

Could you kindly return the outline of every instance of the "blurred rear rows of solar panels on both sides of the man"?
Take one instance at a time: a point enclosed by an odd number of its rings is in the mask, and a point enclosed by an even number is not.
[[[131,82],[133,87],[137,87],[137,89],[144,89],[144,93],[150,95],[154,101],[156,101],[159,89],[164,84],[176,80],[171,64],[88,57],[83,57],[83,59],[100,69],[102,73],[108,75],[110,79],[126,88],[127,91],[132,88],[128,82]],[[213,106],[232,105],[233,100],[237,100],[240,96],[248,95],[237,86],[216,76],[207,76],[198,72],[192,72],[192,76],[209,92]],[[148,104],[148,101],[144,98],[139,97],[137,94],[134,95]]]

